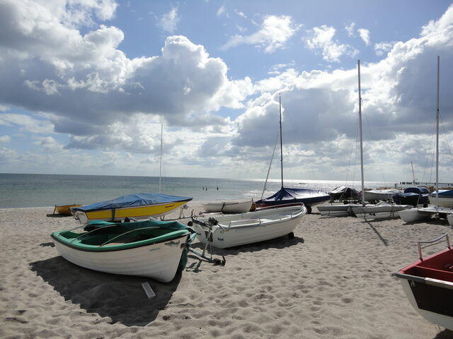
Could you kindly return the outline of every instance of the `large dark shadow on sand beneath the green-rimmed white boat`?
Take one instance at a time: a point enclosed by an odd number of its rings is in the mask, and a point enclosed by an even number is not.
[[[102,273],[76,266],[61,256],[35,261],[30,268],[65,300],[79,304],[89,313],[109,317],[109,323],[125,326],[145,326],[154,321],[181,278],[181,273],[177,273],[171,283],[159,283],[151,278]],[[149,283],[156,297],[148,299],[142,283]]]

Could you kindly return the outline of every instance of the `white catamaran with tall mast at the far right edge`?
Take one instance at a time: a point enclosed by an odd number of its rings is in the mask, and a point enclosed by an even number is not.
[[[439,191],[439,82],[440,82],[440,57],[437,57],[437,108],[436,108],[436,191],[431,194],[432,198],[435,198],[435,206],[425,208],[411,208],[408,210],[401,211],[399,213],[400,218],[404,222],[415,222],[431,218],[433,215],[440,217],[448,217],[453,213],[453,209],[447,207],[441,207],[440,201],[443,196],[452,196],[453,190],[442,190]],[[453,199],[452,199],[453,201]],[[442,200],[443,205],[443,200]],[[451,220],[451,218],[449,219]],[[452,220],[453,221],[453,220]]]

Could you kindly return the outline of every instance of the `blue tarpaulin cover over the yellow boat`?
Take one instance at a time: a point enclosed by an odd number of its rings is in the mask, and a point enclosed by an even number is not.
[[[154,205],[156,203],[177,203],[180,201],[191,201],[192,198],[187,196],[168,196],[159,193],[138,193],[120,196],[118,198],[92,203],[81,207],[72,208],[72,210],[81,210],[82,212],[91,212],[93,210],[111,210],[116,208],[137,207]]]

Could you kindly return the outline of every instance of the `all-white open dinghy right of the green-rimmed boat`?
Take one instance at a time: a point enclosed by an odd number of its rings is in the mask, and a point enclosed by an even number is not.
[[[192,225],[200,242],[225,249],[291,234],[305,213],[303,205],[268,208],[216,218],[195,217]]]

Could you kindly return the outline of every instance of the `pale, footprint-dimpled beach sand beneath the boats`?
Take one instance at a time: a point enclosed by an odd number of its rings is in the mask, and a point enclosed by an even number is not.
[[[418,258],[418,240],[453,237],[446,220],[314,213],[294,239],[214,249],[223,267],[190,255],[173,282],[158,283],[64,260],[50,233],[75,223],[52,210],[0,209],[0,338],[453,338],[419,316],[391,277]]]

